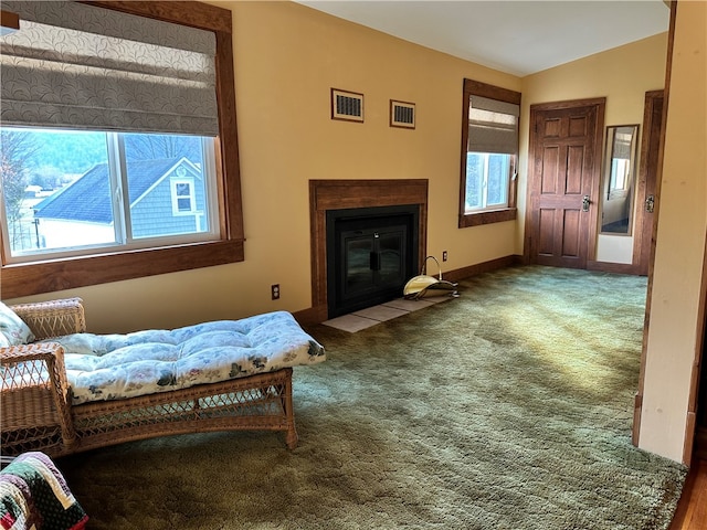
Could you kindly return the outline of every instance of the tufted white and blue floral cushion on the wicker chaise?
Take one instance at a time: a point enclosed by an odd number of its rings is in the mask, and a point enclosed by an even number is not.
[[[287,311],[127,335],[75,333],[64,347],[72,403],[186,389],[321,362],[321,344]]]

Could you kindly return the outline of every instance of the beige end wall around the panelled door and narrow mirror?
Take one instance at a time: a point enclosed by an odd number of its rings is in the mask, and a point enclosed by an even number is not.
[[[666,52],[667,32],[529,75],[523,80],[521,119],[528,123],[529,107],[536,103],[606,97],[604,125],[642,125],[645,93],[662,89],[665,84]],[[639,129],[642,132],[642,127]],[[520,145],[527,153],[528,129],[524,132]],[[519,226],[518,252],[524,227]],[[633,237],[600,235],[597,255],[590,258],[631,263],[632,256]]]

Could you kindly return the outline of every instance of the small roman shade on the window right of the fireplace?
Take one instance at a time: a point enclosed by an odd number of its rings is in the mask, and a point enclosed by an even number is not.
[[[518,116],[513,103],[472,95],[468,107],[468,151],[518,152]]]

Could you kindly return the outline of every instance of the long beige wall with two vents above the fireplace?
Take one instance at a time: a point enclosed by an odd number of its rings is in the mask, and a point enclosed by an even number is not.
[[[447,271],[515,252],[513,222],[457,230],[460,113],[464,77],[519,78],[294,2],[211,3],[233,11],[245,262],[29,299],[81,296],[96,332],[309,308],[309,179],[429,179],[428,252]],[[331,87],[365,94],[363,124],[330,119]],[[416,104],[415,130],[389,127],[391,98]]]

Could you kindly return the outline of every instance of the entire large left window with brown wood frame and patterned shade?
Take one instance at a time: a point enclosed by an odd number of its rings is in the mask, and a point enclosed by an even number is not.
[[[243,261],[231,12],[3,9],[3,298]]]

